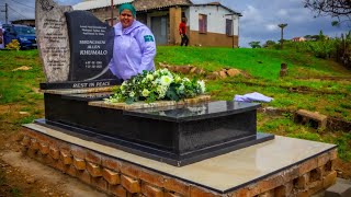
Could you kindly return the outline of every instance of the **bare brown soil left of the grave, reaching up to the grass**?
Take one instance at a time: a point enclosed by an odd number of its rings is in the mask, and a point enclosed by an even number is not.
[[[20,113],[21,108],[21,105],[0,105],[0,197],[107,196],[21,153],[15,120],[29,116]]]

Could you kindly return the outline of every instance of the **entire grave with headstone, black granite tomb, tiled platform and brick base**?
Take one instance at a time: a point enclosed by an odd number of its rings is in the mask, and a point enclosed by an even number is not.
[[[47,82],[45,117],[23,126],[31,158],[117,196],[310,195],[333,184],[336,146],[258,132],[260,104],[103,102],[121,82],[106,69],[111,28],[50,0],[36,0],[36,15]]]

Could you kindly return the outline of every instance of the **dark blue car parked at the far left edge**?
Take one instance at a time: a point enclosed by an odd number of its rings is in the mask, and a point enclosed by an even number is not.
[[[35,30],[32,26],[18,25],[18,24],[7,24],[2,25],[4,28],[3,40],[4,46],[12,42],[12,39],[18,39],[21,49],[36,48],[36,36]]]

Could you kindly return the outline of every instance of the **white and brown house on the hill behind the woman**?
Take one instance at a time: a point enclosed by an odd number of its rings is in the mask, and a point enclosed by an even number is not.
[[[154,33],[157,45],[178,45],[181,42],[179,23],[188,19],[188,35],[192,46],[238,47],[240,13],[220,4],[193,3],[191,0],[111,0],[83,1],[75,10],[92,12],[103,22],[118,21],[117,8],[132,3],[137,10],[137,20]]]

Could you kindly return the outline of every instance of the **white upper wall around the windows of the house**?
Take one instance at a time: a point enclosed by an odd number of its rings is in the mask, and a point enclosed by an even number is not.
[[[230,14],[230,12],[218,5],[190,7],[188,25],[191,31],[199,31],[199,14],[207,15],[207,32],[226,34],[226,19],[234,19],[233,33],[234,35],[239,33],[239,16],[226,15]]]

